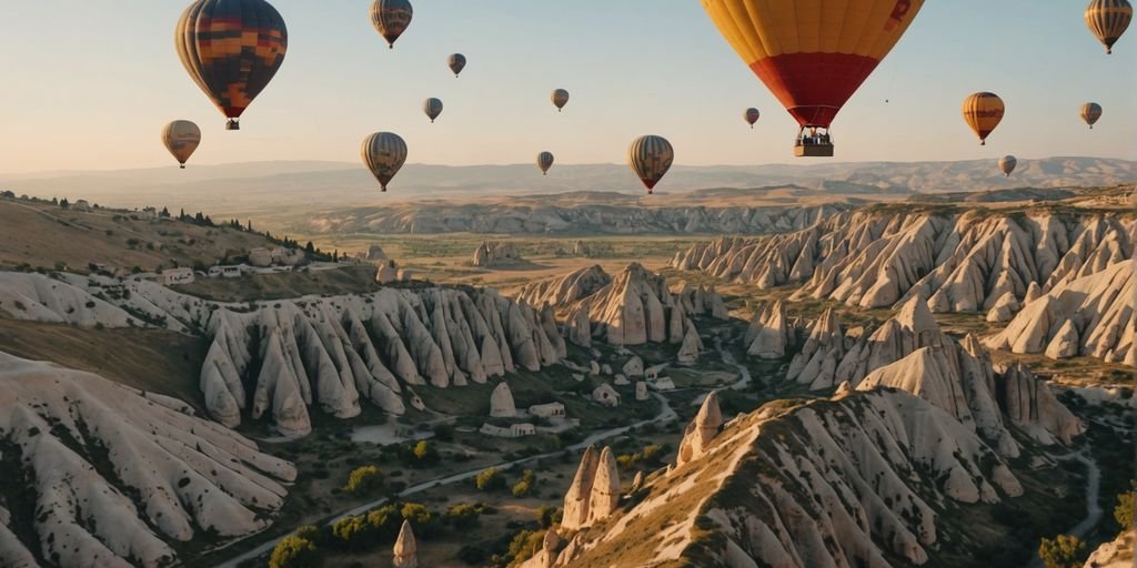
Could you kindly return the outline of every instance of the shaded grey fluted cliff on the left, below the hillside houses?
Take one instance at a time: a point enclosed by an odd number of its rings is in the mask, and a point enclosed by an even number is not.
[[[310,432],[309,407],[347,418],[364,398],[392,415],[413,389],[484,383],[564,358],[551,309],[489,290],[383,289],[371,294],[223,304],[148,283],[0,273],[0,310],[83,326],[147,321],[211,341],[201,368],[206,408],[236,426],[271,416],[288,435]]]

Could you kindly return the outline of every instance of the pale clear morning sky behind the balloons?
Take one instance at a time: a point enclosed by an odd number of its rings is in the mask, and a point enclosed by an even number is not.
[[[165,166],[174,118],[197,122],[193,164],[355,161],[392,131],[425,164],[621,162],[640,134],[687,165],[790,162],[796,123],[697,0],[418,0],[393,51],[366,0],[272,0],[290,47],[240,133],[173,45],[182,0],[8,2],[0,33],[0,173]],[[1137,30],[1106,56],[1081,0],[929,0],[833,125],[837,160],[1098,156],[1137,159]],[[454,51],[470,65],[446,67]],[[572,101],[563,115],[555,87]],[[994,91],[1007,116],[986,148],[960,117]],[[428,97],[446,110],[431,125]],[[885,99],[891,102],[886,103]],[[1094,131],[1082,102],[1105,111]],[[763,112],[755,131],[746,107]]]

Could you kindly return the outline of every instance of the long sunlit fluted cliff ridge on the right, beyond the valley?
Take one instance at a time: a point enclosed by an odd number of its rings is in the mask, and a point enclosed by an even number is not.
[[[935,312],[990,310],[1130,258],[1131,216],[993,216],[858,209],[805,229],[720,239],[678,253],[672,266],[770,289],[800,283],[795,298],[881,308],[913,296]]]

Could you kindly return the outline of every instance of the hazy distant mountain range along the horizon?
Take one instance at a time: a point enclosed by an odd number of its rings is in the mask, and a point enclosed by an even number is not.
[[[663,193],[699,189],[794,185],[819,195],[904,195],[990,191],[1014,187],[1110,185],[1137,181],[1137,161],[1056,157],[1020,159],[1010,178],[994,160],[943,162],[837,162],[764,166],[677,166]],[[329,161],[274,161],[113,172],[0,174],[0,190],[35,197],[88,199],[108,206],[167,206],[217,216],[281,214],[376,207],[416,199],[492,199],[500,195],[642,190],[626,166],[557,166],[548,177],[531,165],[431,166],[412,164],[382,195],[359,165]]]

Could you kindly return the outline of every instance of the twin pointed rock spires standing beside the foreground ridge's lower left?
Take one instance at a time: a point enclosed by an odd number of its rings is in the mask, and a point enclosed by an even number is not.
[[[579,531],[608,518],[620,507],[620,470],[611,448],[588,446],[565,494],[561,527]]]

